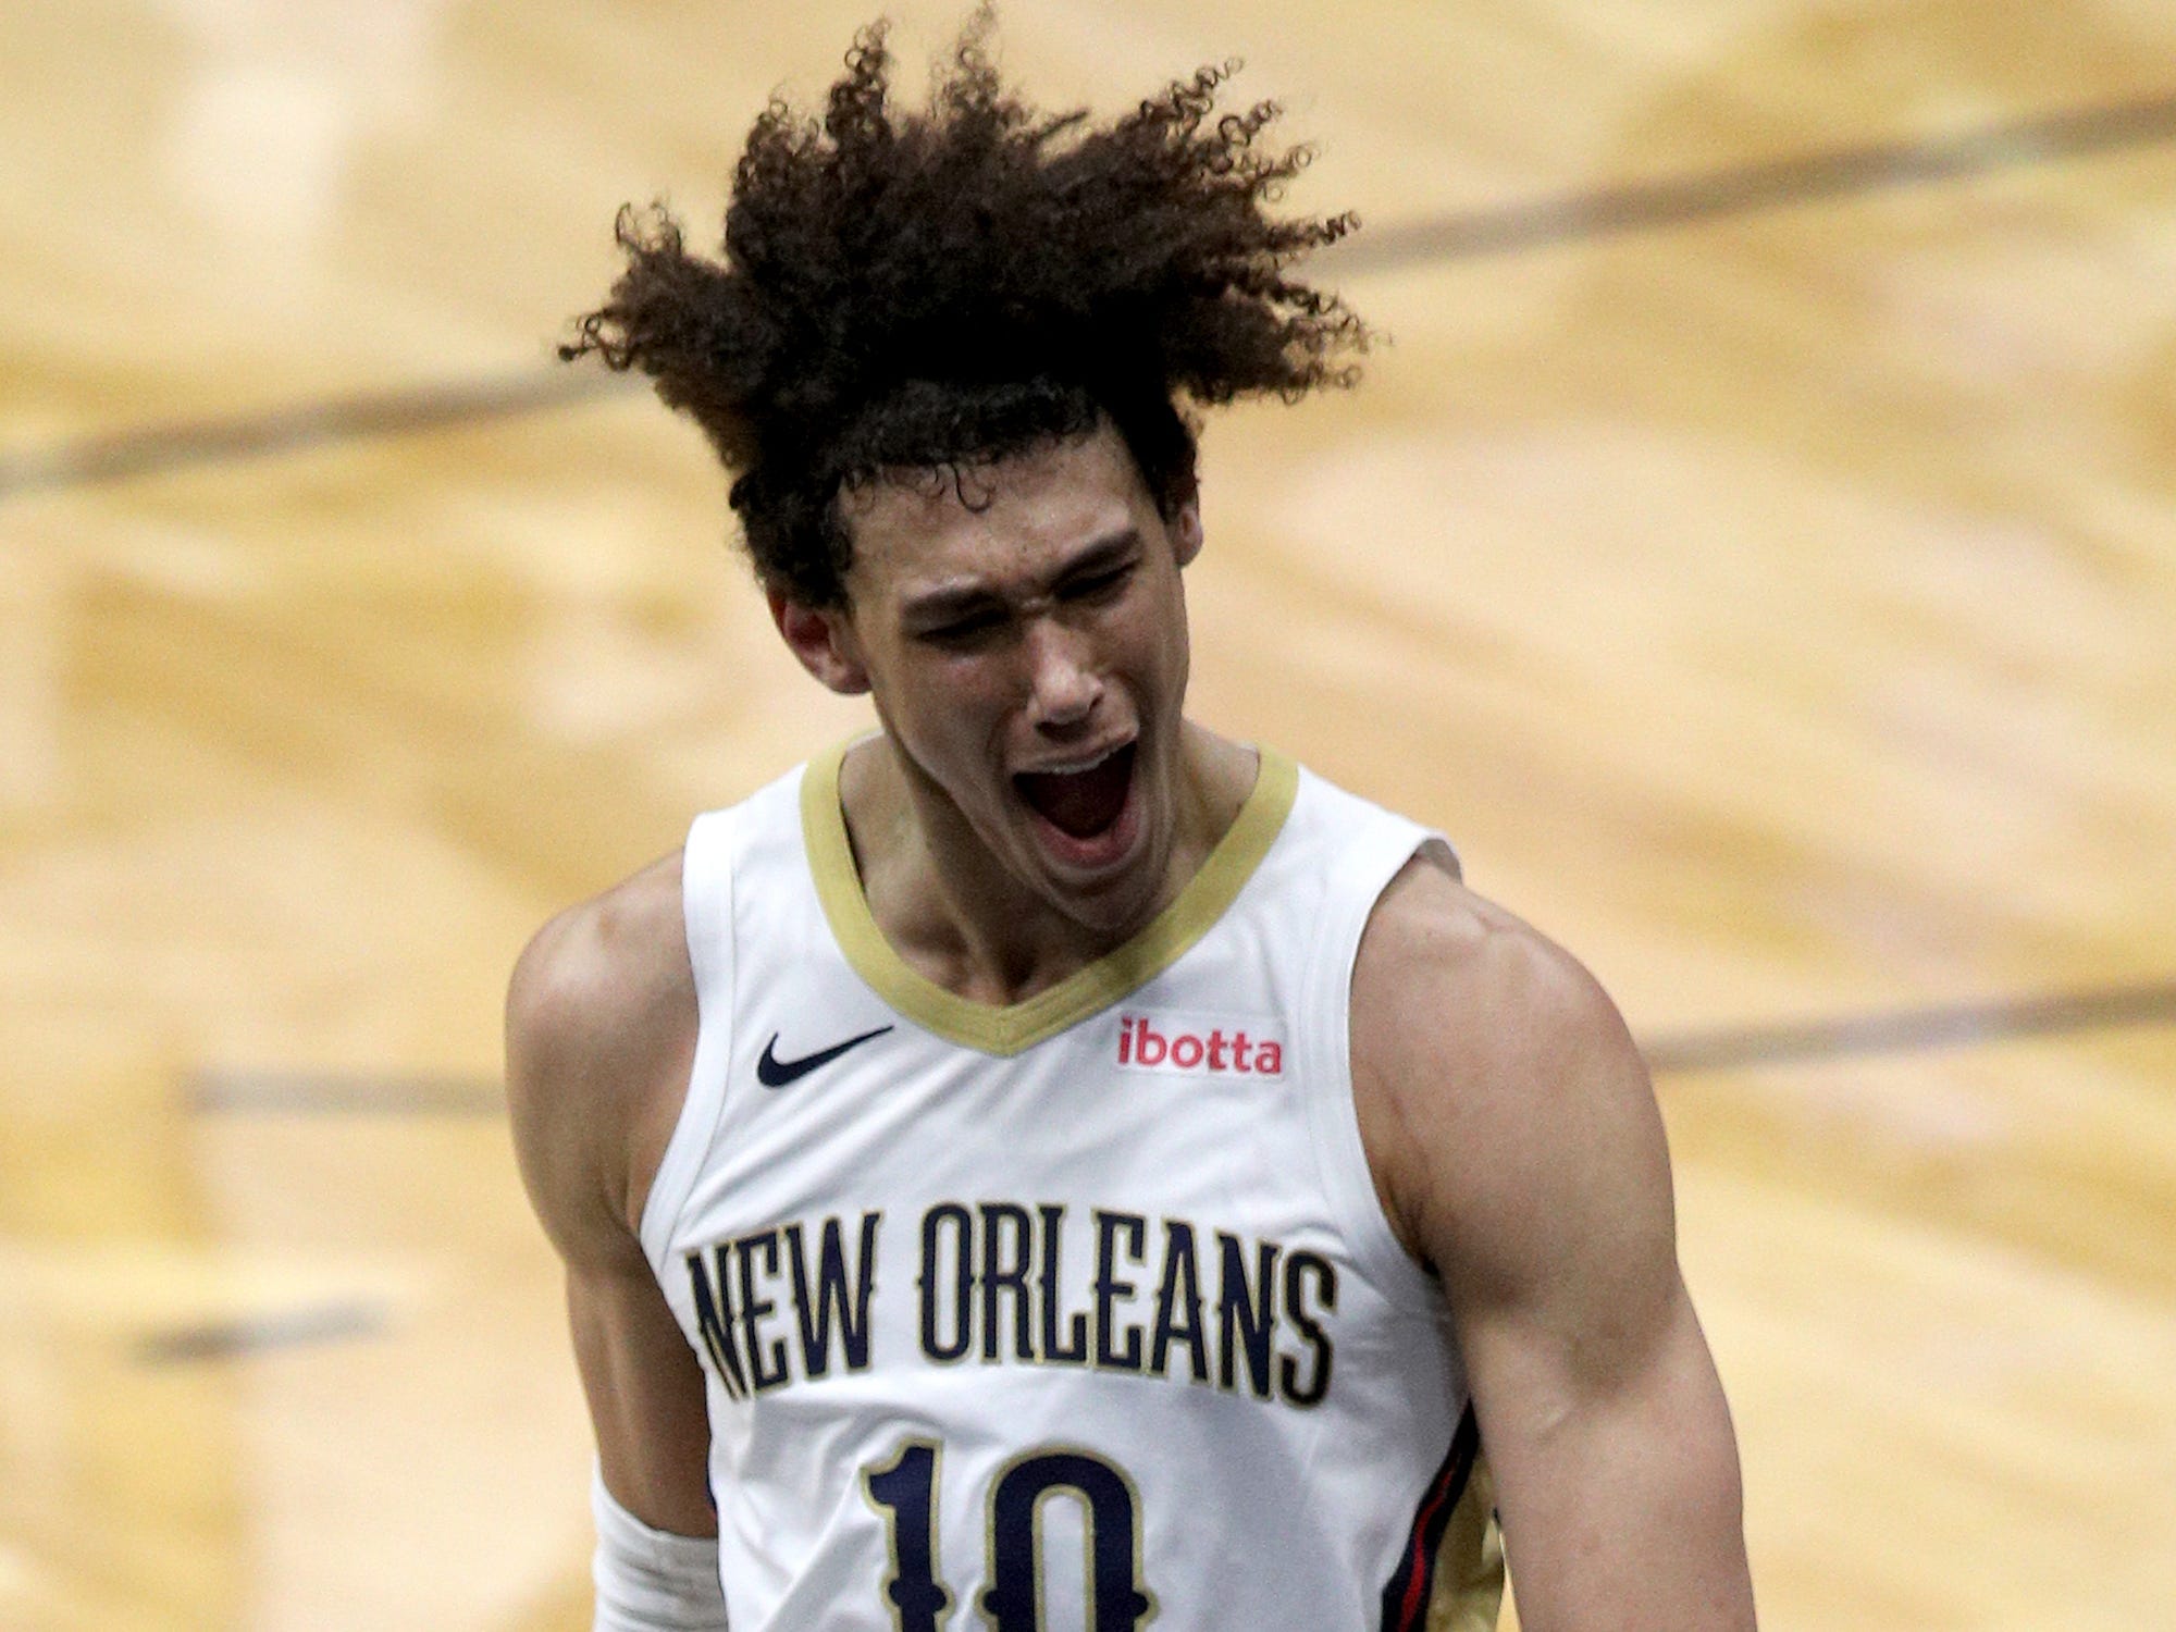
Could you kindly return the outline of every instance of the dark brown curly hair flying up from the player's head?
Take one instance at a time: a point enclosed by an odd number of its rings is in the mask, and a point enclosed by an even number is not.
[[[755,120],[725,261],[664,207],[622,209],[627,268],[559,348],[640,368],[703,426],[757,574],[805,605],[844,605],[842,487],[957,487],[962,463],[1110,422],[1171,518],[1195,496],[1179,396],[1358,379],[1367,329],[1286,276],[1356,222],[1266,213],[1312,150],[1262,150],[1275,102],[1216,113],[1238,63],[1095,128],[1007,91],[988,30],[984,9],[929,107],[894,113],[886,24],[864,28],[820,122],[783,100]]]

